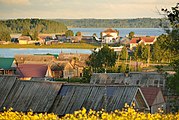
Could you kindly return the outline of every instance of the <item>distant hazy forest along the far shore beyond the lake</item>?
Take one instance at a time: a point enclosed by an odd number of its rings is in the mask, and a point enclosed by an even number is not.
[[[159,28],[159,18],[136,19],[53,19],[71,28]]]

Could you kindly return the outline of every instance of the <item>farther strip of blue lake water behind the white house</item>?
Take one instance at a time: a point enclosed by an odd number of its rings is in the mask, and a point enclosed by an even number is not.
[[[69,28],[74,33],[80,31],[84,36],[92,36],[94,33],[100,37],[100,32],[106,30],[106,28]],[[119,31],[121,37],[125,37],[131,31],[136,35],[146,35],[146,36],[159,36],[165,31],[162,28],[113,28]]]

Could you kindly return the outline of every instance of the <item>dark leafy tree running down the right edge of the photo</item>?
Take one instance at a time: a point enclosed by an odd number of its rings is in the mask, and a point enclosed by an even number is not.
[[[168,77],[166,81],[167,90],[170,94],[179,95],[179,3],[175,7],[171,7],[171,10],[162,9],[166,13],[168,20],[170,21],[170,26],[172,29],[167,30],[167,35],[169,41],[165,48],[172,51],[174,57],[171,66],[175,70],[175,74]],[[178,105],[179,97],[173,102],[173,108],[175,111],[179,110]]]

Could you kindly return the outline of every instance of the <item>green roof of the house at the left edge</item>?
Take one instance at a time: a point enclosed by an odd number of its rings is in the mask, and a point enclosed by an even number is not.
[[[14,58],[0,57],[0,69],[8,70],[11,68]]]

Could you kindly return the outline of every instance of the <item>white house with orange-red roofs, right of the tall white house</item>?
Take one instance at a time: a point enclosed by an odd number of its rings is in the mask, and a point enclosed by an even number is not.
[[[156,37],[154,36],[146,36],[146,37],[134,37],[130,41],[130,49],[134,49],[138,44],[143,43],[144,45],[152,45],[156,41]]]

